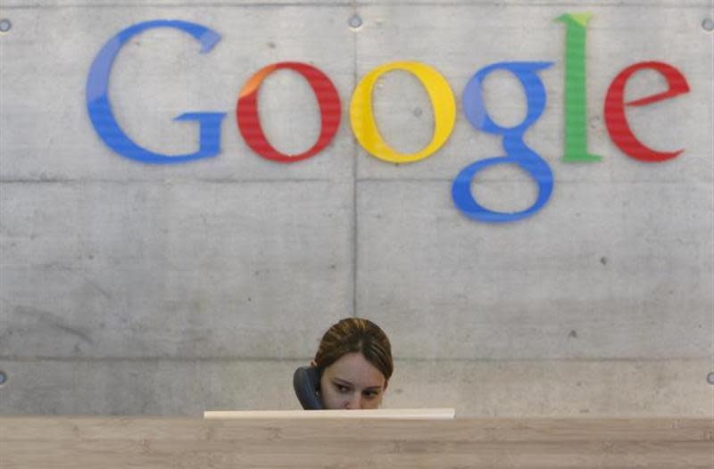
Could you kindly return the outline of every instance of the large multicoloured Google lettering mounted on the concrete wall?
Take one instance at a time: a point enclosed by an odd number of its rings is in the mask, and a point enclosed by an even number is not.
[[[585,103],[585,36],[588,13],[570,13],[557,18],[566,26],[566,76],[565,76],[565,162],[594,162],[600,156],[587,152],[587,106]],[[220,35],[200,24],[187,21],[145,21],[123,29],[112,37],[95,57],[87,77],[87,111],[89,119],[102,138],[114,152],[131,160],[148,164],[184,163],[216,156],[220,153],[220,124],[225,112],[187,112],[176,120],[195,120],[199,125],[198,150],[182,155],[167,155],[151,152],[139,146],[120,128],[112,112],[108,85],[112,63],[131,37],[148,29],[179,29],[201,44],[201,53],[208,53],[220,40]],[[541,116],[546,103],[540,70],[553,62],[497,62],[478,70],[469,79],[461,95],[462,107],[470,124],[478,130],[502,137],[502,156],[477,160],[461,169],[452,183],[452,199],[456,207],[469,218],[485,222],[510,222],[526,218],[544,207],[552,193],[553,177],[548,163],[523,142],[523,136]],[[310,84],[320,108],[320,136],[305,152],[285,154],[268,141],[262,131],[258,115],[258,91],[265,78],[276,70],[293,70]],[[378,79],[392,70],[404,70],[419,79],[428,93],[434,111],[434,130],[431,141],[419,152],[396,152],[380,135],[372,111],[372,90]],[[483,97],[483,82],[495,70],[505,70],[518,78],[526,94],[526,118],[511,128],[499,126],[486,110]],[[667,81],[668,89],[654,95],[625,103],[624,91],[627,80],[641,70],[654,70]],[[605,125],[613,143],[627,156],[636,160],[657,162],[670,160],[682,152],[658,152],[642,144],[627,122],[626,106],[643,106],[689,92],[682,73],[664,62],[634,63],[612,80],[605,96]],[[335,85],[320,69],[302,62],[278,62],[268,65],[253,74],[241,88],[237,104],[237,129],[245,143],[262,158],[280,163],[305,160],[322,151],[334,138],[342,118],[341,101]],[[395,163],[411,163],[428,158],[441,148],[452,133],[456,121],[456,101],[451,86],[438,70],[420,62],[390,62],[369,71],[354,88],[350,102],[350,122],[354,136],[361,146],[380,160]],[[536,201],[526,210],[501,212],[489,210],[477,202],[470,185],[482,169],[499,165],[515,164],[525,170],[538,185]]]

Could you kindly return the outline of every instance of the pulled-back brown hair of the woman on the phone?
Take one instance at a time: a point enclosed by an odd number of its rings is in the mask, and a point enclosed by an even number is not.
[[[343,355],[352,352],[360,352],[389,381],[394,371],[389,339],[378,325],[360,317],[342,319],[322,336],[315,355],[320,375]]]

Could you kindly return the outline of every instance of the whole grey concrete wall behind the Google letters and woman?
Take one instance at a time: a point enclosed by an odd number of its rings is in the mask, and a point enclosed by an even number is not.
[[[587,37],[593,164],[563,152],[565,12],[593,12]],[[358,28],[350,25],[361,18]],[[386,407],[462,416],[713,415],[714,84],[708,0],[605,2],[114,2],[4,0],[0,18],[0,413],[199,415],[298,408],[292,372],[340,317],[369,317],[393,341]],[[199,54],[170,29],[134,38],[112,70],[121,126],[162,152],[193,152],[187,111],[225,111],[217,158],[151,166],[106,147],[87,117],[87,70],[139,21],[195,21],[222,36]],[[354,23],[353,23],[354,24]],[[707,23],[707,26],[709,23]],[[348,109],[374,67],[435,67],[459,101],[444,147],[409,165],[369,156]],[[644,143],[684,148],[643,163],[612,143],[604,95],[628,65],[677,67],[691,92],[631,109]],[[336,84],[330,146],[280,165],[237,133],[237,92],[272,62],[313,63]],[[489,225],[451,200],[469,163],[502,155],[471,128],[461,95],[480,68],[553,61],[527,144],[549,162],[550,202]],[[665,86],[637,75],[627,96]],[[486,81],[494,119],[516,124],[515,78]],[[262,122],[285,152],[320,129],[303,78],[262,86]],[[374,109],[395,148],[434,123],[416,78],[382,78]],[[474,185],[522,210],[535,185],[502,165]]]

